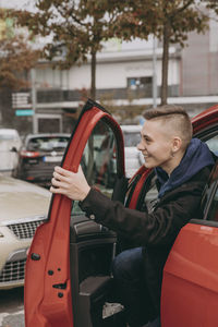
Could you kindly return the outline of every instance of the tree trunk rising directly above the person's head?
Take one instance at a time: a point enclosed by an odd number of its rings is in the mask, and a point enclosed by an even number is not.
[[[169,62],[169,44],[170,44],[170,26],[164,26],[164,51],[162,51],[162,84],[161,84],[161,106],[167,105],[168,98],[168,62]]]

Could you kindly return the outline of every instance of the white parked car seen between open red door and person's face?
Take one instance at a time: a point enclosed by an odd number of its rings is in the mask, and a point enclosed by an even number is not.
[[[136,147],[141,141],[142,125],[121,125],[121,130],[124,137],[125,173],[131,178],[144,164],[144,158]]]

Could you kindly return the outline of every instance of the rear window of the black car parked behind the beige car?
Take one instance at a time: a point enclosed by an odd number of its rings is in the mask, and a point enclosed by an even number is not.
[[[34,137],[27,145],[28,150],[58,150],[64,149],[69,137]]]

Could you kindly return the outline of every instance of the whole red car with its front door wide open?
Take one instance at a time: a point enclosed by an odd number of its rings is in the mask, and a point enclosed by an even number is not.
[[[193,119],[194,135],[218,150],[218,106]],[[113,137],[117,181],[106,183],[96,165],[104,140]],[[116,156],[114,156],[116,146]],[[101,160],[101,159],[100,159]],[[108,157],[107,160],[110,160]],[[104,165],[106,165],[105,160]],[[141,209],[156,196],[154,171],[142,167],[124,179],[123,137],[118,123],[98,104],[88,100],[72,133],[62,167],[82,165],[88,182],[109,197]],[[105,171],[105,170],[104,170]],[[110,165],[108,171],[110,173]],[[114,173],[114,167],[112,168]],[[164,270],[161,327],[217,327],[218,325],[218,166],[205,185],[204,219],[193,219],[179,233]],[[76,202],[53,195],[48,222],[32,243],[25,276],[26,327],[121,327],[122,311],[110,315],[114,289],[110,264],[116,234],[86,218]],[[104,308],[104,315],[102,315]]]

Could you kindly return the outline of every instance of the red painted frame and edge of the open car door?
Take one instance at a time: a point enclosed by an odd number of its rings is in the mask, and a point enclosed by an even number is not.
[[[77,171],[83,150],[96,123],[104,119],[118,137],[117,159],[124,174],[123,138],[119,125],[109,113],[88,101],[73,133],[62,167]],[[119,157],[119,158],[118,158]],[[69,261],[69,230],[72,202],[53,195],[48,222],[35,234],[25,271],[25,326],[73,327]]]

